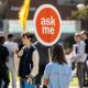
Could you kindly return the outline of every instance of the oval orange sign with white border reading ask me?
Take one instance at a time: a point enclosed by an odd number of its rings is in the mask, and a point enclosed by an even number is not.
[[[51,4],[41,6],[34,15],[36,38],[46,46],[54,45],[61,36],[61,15]]]

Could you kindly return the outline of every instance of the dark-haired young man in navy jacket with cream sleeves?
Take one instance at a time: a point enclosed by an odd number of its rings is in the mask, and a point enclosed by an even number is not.
[[[24,88],[24,80],[31,82],[38,74],[38,53],[32,44],[33,34],[24,33],[22,35],[22,44],[24,45],[18,53],[20,59],[19,76],[21,87]]]

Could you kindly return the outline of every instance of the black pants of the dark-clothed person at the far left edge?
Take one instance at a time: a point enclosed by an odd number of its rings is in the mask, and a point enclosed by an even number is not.
[[[0,88],[1,88],[2,81],[4,82],[3,88],[8,88],[10,79],[9,79],[9,70],[7,69],[7,67],[0,68]]]

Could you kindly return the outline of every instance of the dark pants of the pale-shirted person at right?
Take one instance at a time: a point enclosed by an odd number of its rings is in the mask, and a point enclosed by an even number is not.
[[[77,63],[77,77],[79,82],[79,88],[84,87],[84,63]]]

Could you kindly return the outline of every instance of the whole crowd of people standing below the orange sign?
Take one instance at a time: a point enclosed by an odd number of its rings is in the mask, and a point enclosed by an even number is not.
[[[32,33],[23,33],[21,42],[14,42],[14,35],[9,34],[6,41],[0,35],[0,88],[9,88],[10,74],[12,88],[16,88],[16,76],[20,87],[25,88],[25,81],[33,82],[36,88],[68,88],[73,80],[73,70],[65,57],[62,44],[52,46],[51,62],[48,47],[33,43]],[[88,86],[88,33],[81,31],[75,34],[69,61],[77,68],[79,88]],[[10,74],[9,74],[10,73]]]

